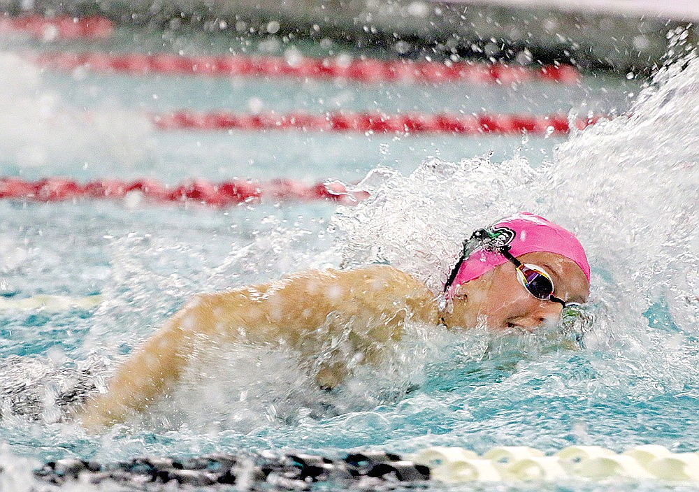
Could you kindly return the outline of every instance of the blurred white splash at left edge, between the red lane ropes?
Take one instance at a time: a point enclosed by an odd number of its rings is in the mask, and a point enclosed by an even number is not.
[[[9,164],[134,164],[148,150],[147,117],[103,105],[86,112],[43,87],[41,69],[0,52],[0,155]]]

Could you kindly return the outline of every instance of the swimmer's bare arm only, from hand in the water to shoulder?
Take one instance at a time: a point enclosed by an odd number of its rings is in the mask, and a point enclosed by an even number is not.
[[[284,331],[282,326],[298,326],[298,320],[293,323],[290,318],[298,316],[299,309],[305,312],[301,300],[288,298],[298,292],[264,296],[267,290],[265,284],[195,296],[117,369],[107,393],[87,401],[78,416],[82,425],[117,424],[142,412],[172,391],[191,356],[197,349],[206,350],[205,344],[245,339],[264,345],[282,333],[294,338],[294,330]]]

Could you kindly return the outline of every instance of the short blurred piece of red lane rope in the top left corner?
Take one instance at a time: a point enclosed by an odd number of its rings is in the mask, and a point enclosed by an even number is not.
[[[0,17],[0,32],[24,33],[42,39],[85,39],[108,38],[114,30],[114,23],[106,17],[42,17],[22,15],[20,17]]]

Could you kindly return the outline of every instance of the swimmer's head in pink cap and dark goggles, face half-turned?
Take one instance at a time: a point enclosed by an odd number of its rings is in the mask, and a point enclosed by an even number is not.
[[[487,317],[496,327],[557,321],[561,308],[589,295],[590,266],[577,238],[543,217],[520,212],[476,231],[445,285],[459,301],[460,325]],[[464,303],[461,303],[464,304]]]

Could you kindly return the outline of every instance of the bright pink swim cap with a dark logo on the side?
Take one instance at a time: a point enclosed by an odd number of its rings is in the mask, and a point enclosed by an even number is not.
[[[590,280],[590,265],[587,263],[585,250],[579,240],[563,227],[549,222],[544,217],[533,215],[529,212],[519,212],[500,220],[487,230],[500,234],[505,241],[502,245],[510,246],[513,256],[520,256],[536,251],[560,254],[575,261]],[[507,259],[497,252],[475,249],[467,259],[461,263],[459,272],[454,277],[452,287],[465,284],[469,280],[480,277],[498,265],[507,263]]]

